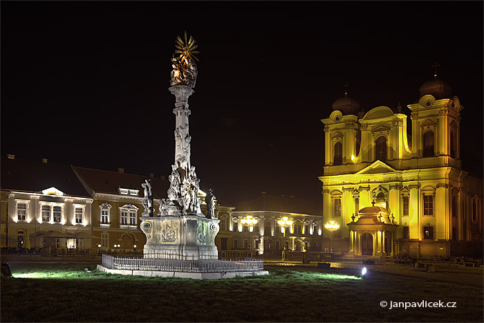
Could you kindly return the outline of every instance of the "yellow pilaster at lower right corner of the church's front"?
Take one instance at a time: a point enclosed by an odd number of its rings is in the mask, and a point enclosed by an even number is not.
[[[451,191],[448,184],[437,184],[436,201],[434,203],[434,216],[436,221],[435,239],[449,240],[451,239],[450,228],[451,210],[449,208],[451,202]]]

